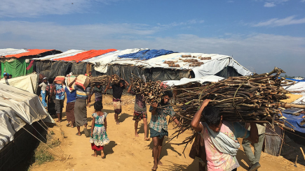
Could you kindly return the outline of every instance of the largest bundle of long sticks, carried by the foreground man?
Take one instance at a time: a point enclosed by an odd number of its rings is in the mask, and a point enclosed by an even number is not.
[[[283,120],[280,121],[283,117],[278,110],[279,101],[288,98],[288,91],[281,87],[284,78],[279,77],[280,73],[285,72],[274,68],[271,73],[229,77],[203,87],[186,89],[176,96],[174,108],[182,128],[175,136],[191,128],[191,120],[205,99],[211,99],[208,106],[218,107],[226,121],[270,123],[287,128]],[[203,117],[201,121],[204,122]],[[182,144],[193,138],[188,137]]]

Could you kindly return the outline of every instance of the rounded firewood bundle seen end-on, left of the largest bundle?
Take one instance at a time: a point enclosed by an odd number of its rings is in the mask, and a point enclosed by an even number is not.
[[[161,102],[165,88],[161,84],[161,81],[144,82],[142,78],[136,77],[131,78],[131,91],[135,92],[135,94],[144,95],[145,101],[152,104]]]

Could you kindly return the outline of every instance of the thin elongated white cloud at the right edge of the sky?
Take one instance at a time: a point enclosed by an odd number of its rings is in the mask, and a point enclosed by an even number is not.
[[[253,27],[280,27],[280,26],[286,26],[286,25],[292,25],[292,24],[304,24],[305,23],[305,17],[301,19],[295,19],[295,15],[292,15],[290,17],[285,17],[283,19],[273,18],[266,22],[259,22],[257,24],[253,24]]]

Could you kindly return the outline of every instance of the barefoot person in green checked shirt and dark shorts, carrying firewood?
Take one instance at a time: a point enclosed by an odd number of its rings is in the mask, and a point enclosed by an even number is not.
[[[161,103],[153,103],[149,107],[149,112],[151,112],[151,120],[149,124],[150,137],[154,144],[154,167],[151,168],[151,170],[157,170],[158,165],[162,165],[160,161],[162,144],[164,136],[168,136],[168,121],[166,120],[166,117],[169,115],[179,126],[179,121],[176,119],[175,112],[169,103],[170,98],[172,98],[172,91],[165,91]]]

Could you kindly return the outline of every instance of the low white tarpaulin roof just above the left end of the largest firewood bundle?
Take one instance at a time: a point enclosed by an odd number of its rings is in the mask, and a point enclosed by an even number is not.
[[[178,85],[188,84],[190,82],[199,82],[200,84],[203,84],[205,82],[219,82],[220,80],[224,80],[224,77],[219,77],[216,75],[208,75],[199,78],[184,77],[181,80],[168,80],[168,81],[164,81],[163,83],[167,84],[168,86],[178,86]]]

